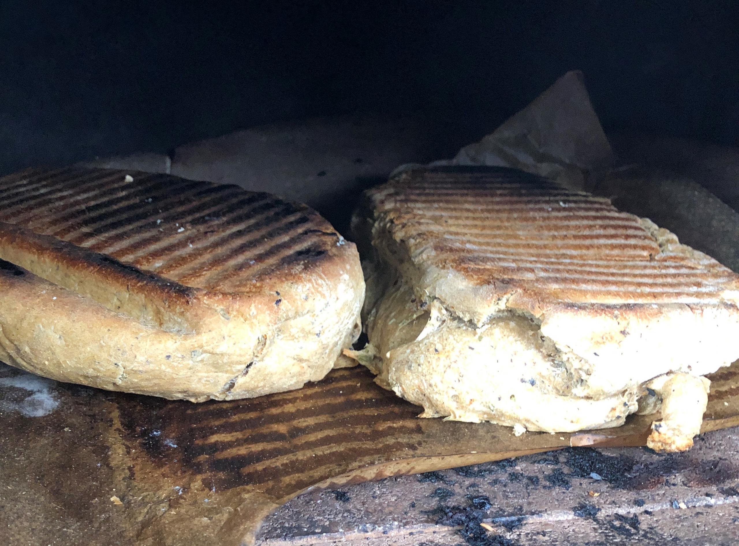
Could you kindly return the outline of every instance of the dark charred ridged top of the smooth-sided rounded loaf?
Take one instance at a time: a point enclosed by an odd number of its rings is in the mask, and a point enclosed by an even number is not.
[[[1,198],[17,206],[1,208],[0,221],[216,291],[249,291],[251,269],[310,267],[338,237],[321,235],[330,227],[305,206],[169,175],[30,169],[0,178]]]

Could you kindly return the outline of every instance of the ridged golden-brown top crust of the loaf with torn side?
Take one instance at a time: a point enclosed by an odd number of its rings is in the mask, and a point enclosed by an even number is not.
[[[506,307],[541,316],[562,304],[739,300],[739,277],[711,257],[605,198],[535,175],[412,169],[368,198],[385,259],[411,263],[403,273],[415,286],[477,323]]]

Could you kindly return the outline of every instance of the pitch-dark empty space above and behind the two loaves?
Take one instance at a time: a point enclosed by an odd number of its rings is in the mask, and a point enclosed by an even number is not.
[[[739,140],[736,1],[0,1],[0,172],[311,115],[494,128],[585,72],[607,131]]]

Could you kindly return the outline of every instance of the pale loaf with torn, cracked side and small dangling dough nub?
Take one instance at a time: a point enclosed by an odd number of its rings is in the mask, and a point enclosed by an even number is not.
[[[692,445],[739,357],[739,276],[605,198],[511,169],[412,169],[353,220],[376,381],[421,417],[571,432],[661,411]]]

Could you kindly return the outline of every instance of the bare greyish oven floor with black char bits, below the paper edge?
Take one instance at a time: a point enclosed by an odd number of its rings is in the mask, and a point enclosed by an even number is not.
[[[692,451],[570,448],[299,496],[262,546],[730,545],[739,541],[739,428]]]

